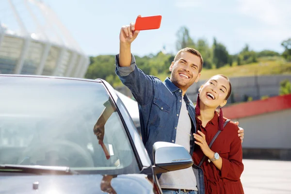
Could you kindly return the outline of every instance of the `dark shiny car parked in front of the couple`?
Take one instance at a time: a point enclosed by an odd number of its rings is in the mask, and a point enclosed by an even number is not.
[[[0,194],[159,194],[156,174],[193,161],[183,146],[153,147],[106,81],[0,75]]]

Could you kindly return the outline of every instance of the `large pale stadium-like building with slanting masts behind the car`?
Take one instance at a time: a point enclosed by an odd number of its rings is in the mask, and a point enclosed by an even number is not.
[[[0,1],[0,73],[82,78],[89,58],[40,0]]]

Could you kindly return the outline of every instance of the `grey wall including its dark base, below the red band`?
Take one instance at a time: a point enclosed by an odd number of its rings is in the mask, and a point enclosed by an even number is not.
[[[232,120],[244,129],[244,159],[291,161],[291,109]]]

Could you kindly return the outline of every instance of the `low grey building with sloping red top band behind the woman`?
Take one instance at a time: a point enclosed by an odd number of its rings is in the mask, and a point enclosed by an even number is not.
[[[243,158],[291,160],[291,95],[223,108],[245,129]]]

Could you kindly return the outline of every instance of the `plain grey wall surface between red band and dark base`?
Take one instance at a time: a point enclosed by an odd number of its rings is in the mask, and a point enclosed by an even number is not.
[[[291,109],[232,120],[245,131],[243,148],[291,149]]]

